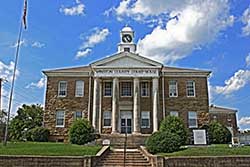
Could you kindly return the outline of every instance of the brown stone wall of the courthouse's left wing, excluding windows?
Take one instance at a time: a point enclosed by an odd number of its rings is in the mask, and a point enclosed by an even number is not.
[[[84,96],[75,97],[75,82],[84,81]],[[58,97],[59,81],[67,81],[67,96]],[[68,130],[74,119],[75,111],[82,111],[88,117],[89,78],[48,77],[45,101],[44,126],[50,130],[50,140],[67,140]],[[56,127],[56,111],[65,111],[64,128]]]

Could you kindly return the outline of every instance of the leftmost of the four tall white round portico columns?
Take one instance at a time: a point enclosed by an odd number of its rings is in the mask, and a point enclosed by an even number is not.
[[[92,126],[97,129],[99,78],[94,78]]]

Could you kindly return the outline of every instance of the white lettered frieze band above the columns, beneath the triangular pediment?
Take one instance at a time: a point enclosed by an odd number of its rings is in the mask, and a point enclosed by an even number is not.
[[[95,77],[158,77],[158,69],[96,69]]]

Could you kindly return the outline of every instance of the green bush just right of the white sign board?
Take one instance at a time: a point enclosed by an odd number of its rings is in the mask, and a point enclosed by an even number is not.
[[[217,121],[212,121],[204,127],[208,131],[209,142],[211,144],[225,144],[231,141],[232,135],[226,126]]]

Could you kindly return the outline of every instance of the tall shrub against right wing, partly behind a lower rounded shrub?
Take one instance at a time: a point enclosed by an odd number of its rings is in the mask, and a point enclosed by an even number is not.
[[[177,134],[181,138],[181,145],[186,144],[187,129],[181,118],[176,116],[167,116],[161,122],[160,131]]]

